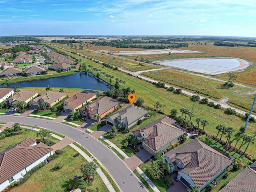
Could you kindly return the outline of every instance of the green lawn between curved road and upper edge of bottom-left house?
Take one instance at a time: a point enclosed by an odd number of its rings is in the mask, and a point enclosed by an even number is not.
[[[4,139],[1,139],[0,140],[0,146],[1,146],[0,151],[4,151],[7,148],[9,148],[10,146],[15,145],[15,144],[25,140],[28,137],[34,137],[35,139],[39,139],[39,137],[36,137],[37,131],[30,130],[30,129],[25,130],[25,128],[23,128],[21,131],[23,133],[20,135],[6,136]],[[60,141],[60,140],[54,138],[53,136],[50,136],[49,140],[51,140],[55,143]]]

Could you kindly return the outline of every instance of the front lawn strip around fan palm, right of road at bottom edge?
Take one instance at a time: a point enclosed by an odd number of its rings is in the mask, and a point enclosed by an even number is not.
[[[160,180],[154,180],[149,172],[148,168],[152,162],[142,163],[139,165],[139,168],[148,176],[148,178],[155,184],[155,186],[160,190],[160,192],[165,192],[169,187],[164,183],[164,178],[160,177]]]

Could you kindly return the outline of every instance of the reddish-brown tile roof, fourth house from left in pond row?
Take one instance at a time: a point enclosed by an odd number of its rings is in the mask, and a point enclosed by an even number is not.
[[[68,106],[74,109],[82,105],[84,102],[88,101],[89,99],[91,99],[93,96],[96,96],[96,94],[95,93],[78,93],[66,99],[65,101],[68,103]]]

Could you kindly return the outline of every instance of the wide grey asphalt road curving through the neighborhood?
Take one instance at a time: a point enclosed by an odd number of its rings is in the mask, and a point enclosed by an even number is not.
[[[31,117],[19,116],[0,116],[1,122],[13,122],[28,125],[37,125],[38,127],[47,128],[49,130],[58,132],[64,136],[68,136],[72,140],[80,143],[94,154],[104,166],[108,169],[110,174],[115,178],[123,192],[145,192],[140,181],[132,174],[124,162],[112,150],[103,145],[89,134],[86,134],[78,129],[71,128],[65,124],[53,122],[50,120],[37,119]]]

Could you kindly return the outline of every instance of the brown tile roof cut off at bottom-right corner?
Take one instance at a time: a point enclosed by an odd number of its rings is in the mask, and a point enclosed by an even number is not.
[[[220,192],[256,192],[256,171],[244,168]]]

